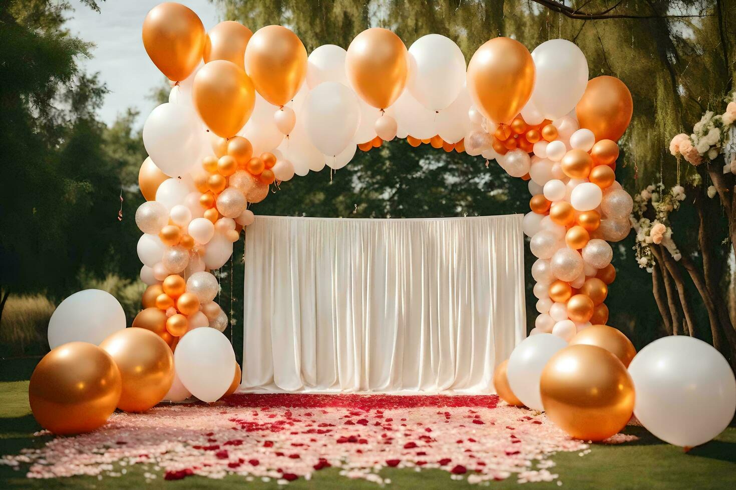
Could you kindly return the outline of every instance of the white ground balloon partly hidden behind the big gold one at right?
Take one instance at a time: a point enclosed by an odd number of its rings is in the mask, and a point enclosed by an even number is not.
[[[547,361],[565,347],[567,342],[558,336],[538,334],[527,337],[514,348],[506,367],[506,376],[512,392],[524,405],[534,410],[544,410],[539,379]]]

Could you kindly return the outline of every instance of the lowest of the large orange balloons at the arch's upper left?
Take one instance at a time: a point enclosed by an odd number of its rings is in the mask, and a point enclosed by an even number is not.
[[[210,61],[200,68],[191,94],[202,120],[224,138],[235,136],[255,104],[253,82],[243,68],[225,60]]]

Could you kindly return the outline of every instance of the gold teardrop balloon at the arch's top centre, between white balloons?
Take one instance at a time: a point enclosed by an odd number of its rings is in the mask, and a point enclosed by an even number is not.
[[[404,42],[393,32],[381,27],[366,29],[347,48],[347,79],[361,99],[386,109],[406,85],[407,56]]]

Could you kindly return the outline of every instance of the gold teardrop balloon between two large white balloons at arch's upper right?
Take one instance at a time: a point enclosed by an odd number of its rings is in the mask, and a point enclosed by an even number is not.
[[[509,37],[486,41],[467,65],[470,97],[486,119],[495,123],[506,123],[521,111],[534,89],[534,77],[529,50]]]

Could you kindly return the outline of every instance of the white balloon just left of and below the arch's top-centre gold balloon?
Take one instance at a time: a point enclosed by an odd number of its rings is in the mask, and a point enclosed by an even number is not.
[[[361,122],[358,97],[339,82],[323,82],[314,87],[302,110],[312,143],[328,156],[347,147]]]

